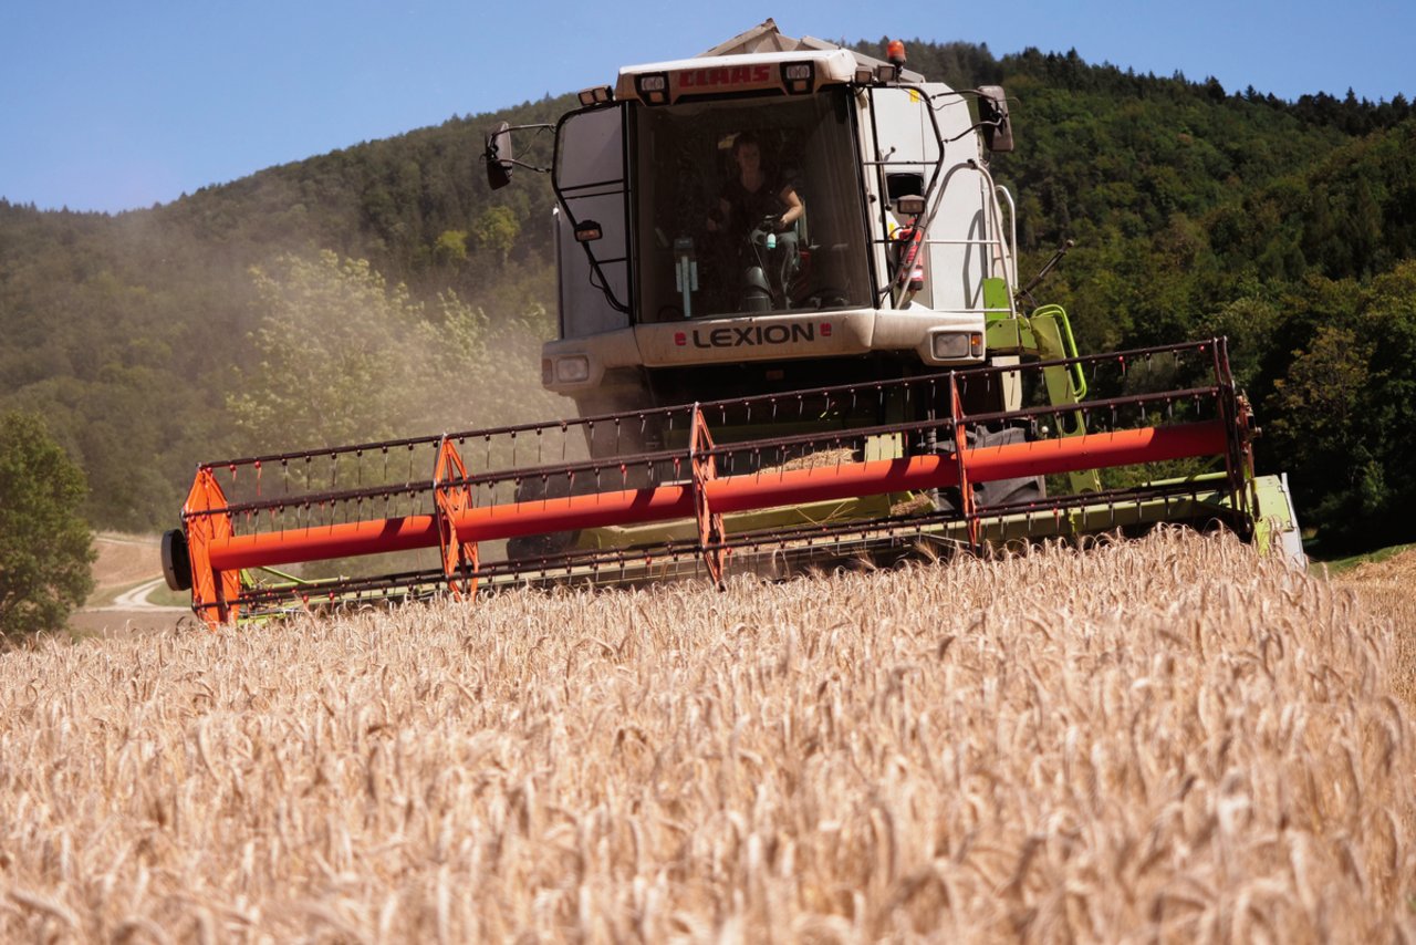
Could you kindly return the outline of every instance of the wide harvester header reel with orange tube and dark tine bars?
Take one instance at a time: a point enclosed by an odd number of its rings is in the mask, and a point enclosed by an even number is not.
[[[974,385],[1059,366],[1110,394],[964,409]],[[1212,339],[202,463],[163,561],[218,626],[521,584],[721,584],[920,543],[983,551],[1160,521],[1250,537],[1250,436]],[[1104,487],[1066,492],[1063,473],[1096,483],[1075,476],[1093,469]],[[988,487],[1037,476],[1062,492]],[[296,564],[306,572],[278,570]]]

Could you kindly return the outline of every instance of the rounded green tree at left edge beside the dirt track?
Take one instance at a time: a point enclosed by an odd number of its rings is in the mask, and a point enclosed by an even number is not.
[[[0,633],[59,629],[93,589],[86,493],[38,417],[0,415]]]

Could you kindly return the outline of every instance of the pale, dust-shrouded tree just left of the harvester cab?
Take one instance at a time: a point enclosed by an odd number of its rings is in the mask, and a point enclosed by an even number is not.
[[[241,449],[494,426],[547,398],[534,312],[493,327],[452,292],[418,302],[367,261],[327,251],[252,272],[266,315],[251,336],[259,363],[228,398]]]

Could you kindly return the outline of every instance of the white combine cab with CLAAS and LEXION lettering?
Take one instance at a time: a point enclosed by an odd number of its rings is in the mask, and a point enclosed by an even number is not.
[[[971,99],[984,137],[1007,129],[1001,91],[770,21],[586,89],[555,126],[544,384],[589,415],[983,364],[1015,273]],[[514,163],[496,145],[493,176]],[[722,218],[749,177],[776,200]]]

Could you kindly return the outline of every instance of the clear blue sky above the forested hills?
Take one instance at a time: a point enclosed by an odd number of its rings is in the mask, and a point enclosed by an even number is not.
[[[0,0],[0,197],[119,211],[610,82],[773,16],[789,35],[1076,51],[1225,88],[1416,98],[1416,3],[1079,0],[780,9],[487,0]]]

